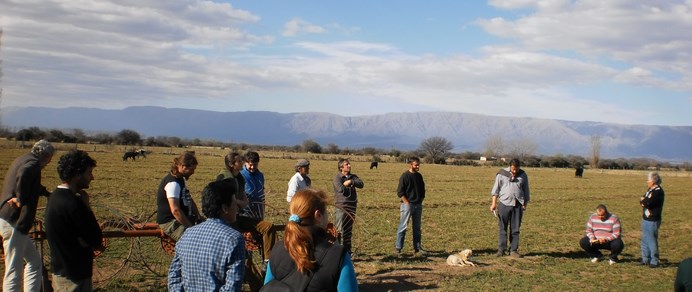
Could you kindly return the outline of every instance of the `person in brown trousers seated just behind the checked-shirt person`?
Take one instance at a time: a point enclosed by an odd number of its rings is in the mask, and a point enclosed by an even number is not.
[[[243,208],[247,207],[248,198],[245,194],[245,179],[240,174],[240,170],[243,169],[243,159],[243,156],[237,152],[229,152],[224,157],[226,169],[219,173],[216,180],[226,180],[236,186],[238,192],[235,197],[240,211],[237,212],[238,215],[236,216],[236,220],[233,224],[231,224],[231,226],[240,232],[258,232],[262,234],[262,246],[264,248],[263,256],[268,260],[271,249],[276,243],[276,230],[274,229],[274,224],[271,222],[260,220],[248,216],[248,214],[244,214]],[[252,291],[259,290],[260,287],[262,287],[263,282],[261,273],[256,270],[257,269],[251,269],[245,273],[245,280],[250,285],[250,290]]]

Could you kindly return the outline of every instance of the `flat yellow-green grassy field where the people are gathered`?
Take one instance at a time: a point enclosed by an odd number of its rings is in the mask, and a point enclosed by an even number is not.
[[[182,149],[151,148],[146,159],[122,161],[124,146],[61,145],[61,152],[78,147],[87,150],[98,162],[96,179],[89,192],[92,202],[108,206],[105,214],[146,217],[156,209],[156,189]],[[189,188],[199,202],[204,185],[223,167],[227,150],[198,148],[200,162],[189,180]],[[0,173],[4,175],[12,160],[28,151],[14,142],[0,145]],[[276,223],[287,220],[286,184],[297,158],[311,160],[313,186],[332,192],[331,181],[337,171],[337,156],[260,152],[260,169],[266,178],[268,216]],[[55,187],[56,156],[44,171],[44,185]],[[662,267],[649,269],[637,265],[641,209],[639,197],[646,191],[646,172],[586,170],[584,178],[574,178],[570,169],[525,169],[531,184],[531,205],[524,214],[520,251],[523,259],[496,258],[497,222],[489,211],[490,187],[497,168],[429,165],[421,166],[427,186],[423,207],[423,247],[427,257],[414,257],[411,233],[407,234],[404,256],[393,256],[399,201],[395,190],[399,175],[407,169],[402,163],[380,163],[368,169],[368,157],[351,157],[353,173],[365,182],[359,190],[358,220],[354,251],[361,291],[410,290],[608,290],[667,291],[672,287],[677,264],[692,256],[692,215],[689,201],[692,175],[688,172],[662,172],[666,191],[664,219],[659,238]],[[588,215],[599,203],[606,204],[623,224],[625,251],[621,263],[593,264],[581,251],[578,240],[584,234]],[[45,202],[41,203],[42,205]],[[113,216],[111,216],[113,217]],[[102,219],[107,220],[107,219]],[[132,241],[120,239],[111,255],[126,256]],[[152,238],[136,241],[126,267],[102,290],[163,290],[165,278],[145,269],[139,253],[149,264],[168,258]],[[447,256],[462,249],[474,250],[475,268],[450,267]],[[109,254],[106,250],[105,254]],[[161,267],[159,267],[161,268]],[[1,268],[0,268],[1,269]],[[100,267],[114,269],[114,267]],[[99,271],[95,271],[99,272]]]

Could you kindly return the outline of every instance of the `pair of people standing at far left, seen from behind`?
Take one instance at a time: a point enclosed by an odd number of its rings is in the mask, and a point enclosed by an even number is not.
[[[41,171],[53,159],[48,141],[9,167],[0,194],[0,235],[5,251],[3,291],[41,291],[43,263],[29,231],[39,196],[48,196],[44,227],[51,254],[55,291],[91,291],[94,250],[102,248],[102,233],[85,191],[94,179],[96,161],[80,150],[58,160],[60,185],[53,192],[41,184]]]

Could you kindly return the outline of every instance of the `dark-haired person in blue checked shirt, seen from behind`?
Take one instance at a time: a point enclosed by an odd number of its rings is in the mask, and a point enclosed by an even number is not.
[[[231,227],[238,213],[237,193],[230,180],[210,182],[204,188],[202,211],[208,219],[188,228],[175,244],[168,290],[241,291],[245,241]]]

